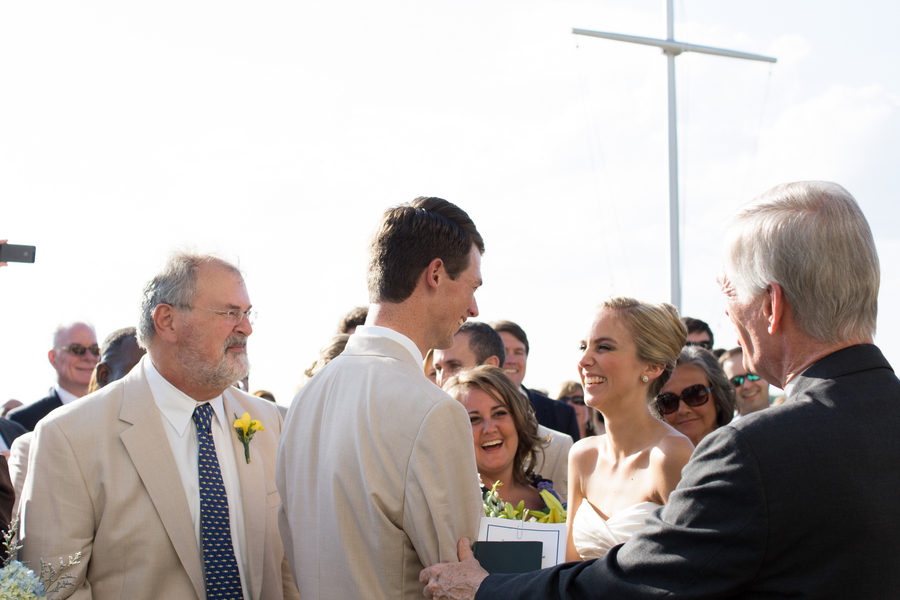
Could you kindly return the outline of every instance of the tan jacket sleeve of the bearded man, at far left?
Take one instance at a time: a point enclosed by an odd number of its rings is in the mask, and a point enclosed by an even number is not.
[[[38,568],[41,559],[58,567],[60,558],[81,552],[80,564],[66,571],[75,576],[74,586],[63,589],[54,599],[90,600],[86,571],[94,543],[94,511],[75,452],[55,422],[38,425],[29,462],[19,504],[19,558]]]

